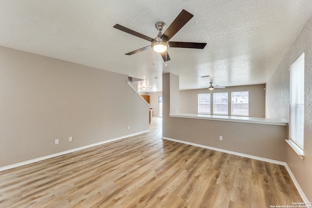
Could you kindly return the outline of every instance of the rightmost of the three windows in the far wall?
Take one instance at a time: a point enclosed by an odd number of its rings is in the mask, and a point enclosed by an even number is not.
[[[248,103],[249,92],[233,92],[231,93],[231,114],[232,115],[249,115]]]

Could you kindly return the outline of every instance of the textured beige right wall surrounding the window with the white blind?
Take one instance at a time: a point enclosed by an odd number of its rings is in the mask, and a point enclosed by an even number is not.
[[[310,19],[288,53],[283,57],[269,81],[266,94],[266,117],[289,120],[289,68],[292,62],[305,53],[305,125],[304,160],[286,146],[286,162],[301,189],[312,201],[312,19]],[[287,139],[287,138],[286,138]]]

